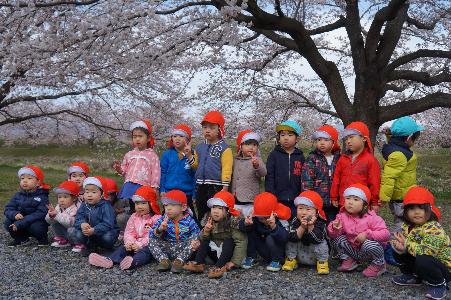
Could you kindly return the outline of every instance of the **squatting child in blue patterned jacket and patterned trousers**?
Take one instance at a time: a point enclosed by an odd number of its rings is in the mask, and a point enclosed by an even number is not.
[[[149,249],[159,262],[157,270],[180,273],[183,264],[198,247],[199,227],[187,211],[184,192],[172,190],[161,199],[164,215],[152,227]],[[172,266],[171,266],[171,260]]]

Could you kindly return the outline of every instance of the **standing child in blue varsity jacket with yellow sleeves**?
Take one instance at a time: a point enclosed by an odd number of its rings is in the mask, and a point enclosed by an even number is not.
[[[196,146],[194,155],[186,148],[188,161],[196,169],[197,220],[208,211],[208,199],[220,190],[227,191],[232,179],[233,154],[224,140],[224,124],[219,111],[208,112],[201,122],[205,141]]]

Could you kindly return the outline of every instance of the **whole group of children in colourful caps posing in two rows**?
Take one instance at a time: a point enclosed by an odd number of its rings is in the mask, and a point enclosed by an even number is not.
[[[18,172],[20,192],[5,208],[10,246],[34,237],[47,245],[70,247],[89,256],[91,265],[122,270],[151,259],[158,271],[203,273],[222,277],[233,268],[252,268],[259,257],[269,271],[293,271],[316,265],[329,273],[329,257],[340,272],[367,264],[366,277],[386,271],[393,251],[402,275],[398,285],[428,285],[427,297],[442,299],[450,281],[450,239],[439,224],[433,195],[416,186],[416,156],[410,149],[422,127],[412,118],[397,119],[382,149],[383,173],[373,155],[368,127],[349,124],[342,132],[330,125],[312,136],[307,156],[296,147],[301,128],[294,121],[276,127],[277,146],[263,162],[261,137],[244,130],[237,153],[224,139],[224,117],[210,111],[202,122],[204,141],[195,149],[191,129],[175,126],[161,160],[153,150],[148,120],[131,125],[133,150],[113,169],[124,177],[120,189],[109,178],[90,177],[75,162],[68,180],[49,203],[49,186],[36,166]],[[265,192],[260,192],[264,179]],[[395,218],[390,232],[378,216],[384,203]],[[117,241],[121,245],[114,249]],[[108,249],[101,255],[100,249]],[[384,255],[385,254],[385,255]]]

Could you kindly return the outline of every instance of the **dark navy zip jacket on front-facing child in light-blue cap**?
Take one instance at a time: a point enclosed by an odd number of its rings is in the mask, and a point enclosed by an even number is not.
[[[288,154],[280,145],[271,151],[266,162],[265,191],[276,195],[283,204],[292,207],[302,190],[301,175],[304,154],[295,148]]]

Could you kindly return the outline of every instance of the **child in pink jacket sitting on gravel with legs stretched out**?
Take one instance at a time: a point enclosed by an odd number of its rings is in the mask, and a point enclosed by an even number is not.
[[[101,268],[112,268],[119,264],[121,270],[137,268],[147,264],[152,258],[149,244],[149,231],[160,216],[155,190],[142,186],[132,197],[135,213],[128,219],[124,234],[124,245],[119,246],[111,255],[97,253],[89,255],[89,263]]]

